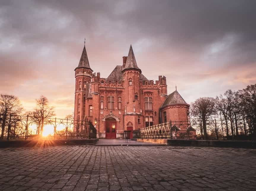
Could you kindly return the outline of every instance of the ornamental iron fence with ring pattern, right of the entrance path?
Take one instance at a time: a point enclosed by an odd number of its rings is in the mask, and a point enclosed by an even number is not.
[[[236,122],[222,119],[206,121],[207,139],[248,140],[250,139],[250,128],[250,123],[244,119],[237,119]],[[169,121],[167,123],[133,130],[133,138],[203,139],[203,123],[200,120]]]

